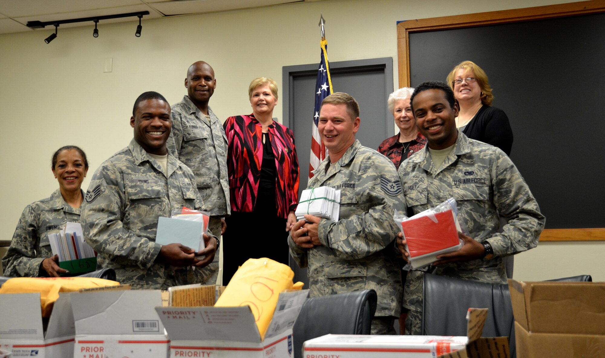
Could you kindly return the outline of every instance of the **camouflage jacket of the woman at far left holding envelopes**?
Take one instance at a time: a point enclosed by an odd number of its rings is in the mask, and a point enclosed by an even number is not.
[[[26,206],[10,247],[2,258],[4,276],[39,276],[42,261],[53,256],[48,234],[59,233],[68,221],[79,223],[80,209],[66,203],[60,189],[55,190],[50,198]],[[42,273],[45,276],[44,270]]]

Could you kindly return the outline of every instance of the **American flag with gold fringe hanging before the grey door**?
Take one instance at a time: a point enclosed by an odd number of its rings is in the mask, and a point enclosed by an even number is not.
[[[328,65],[328,42],[325,40],[325,37],[321,38],[321,42],[319,44],[321,45],[321,61],[319,61],[317,81],[315,82],[317,92],[315,93],[315,109],[313,109],[309,178],[313,178],[313,171],[325,159],[325,155],[327,155],[325,145],[323,142],[321,142],[321,137],[319,137],[319,130],[317,126],[319,122],[319,108],[321,107],[321,101],[333,93],[332,80],[330,79],[330,67]]]

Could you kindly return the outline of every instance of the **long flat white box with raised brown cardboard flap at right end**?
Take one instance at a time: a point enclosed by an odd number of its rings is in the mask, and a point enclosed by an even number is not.
[[[508,337],[481,337],[487,313],[487,308],[469,308],[466,337],[327,334],[304,342],[302,357],[506,358],[509,356]]]

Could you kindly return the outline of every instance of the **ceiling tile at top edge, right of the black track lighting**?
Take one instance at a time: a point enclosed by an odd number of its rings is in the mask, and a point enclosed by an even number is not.
[[[183,15],[195,13],[209,13],[213,11],[235,10],[240,8],[261,7],[268,5],[287,4],[299,0],[178,0],[154,2],[148,1],[154,8],[162,11],[164,15]]]

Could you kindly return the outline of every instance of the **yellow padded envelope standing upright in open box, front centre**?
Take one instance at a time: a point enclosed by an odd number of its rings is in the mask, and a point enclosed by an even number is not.
[[[269,258],[248,259],[235,272],[214,306],[248,305],[257,322],[258,332],[264,339],[280,292],[302,288],[302,282],[292,283],[293,278],[294,272],[288,265]]]

